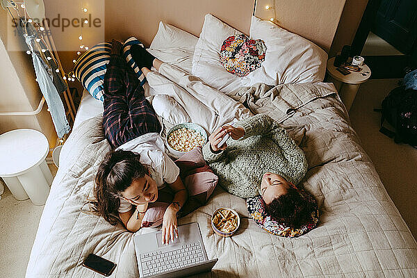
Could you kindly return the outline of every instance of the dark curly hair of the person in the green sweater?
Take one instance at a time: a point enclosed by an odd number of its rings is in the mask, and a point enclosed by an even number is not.
[[[300,228],[305,220],[308,220],[311,212],[311,204],[306,202],[297,189],[290,186],[288,193],[281,195],[266,204],[265,211],[277,222],[284,222],[291,228]]]

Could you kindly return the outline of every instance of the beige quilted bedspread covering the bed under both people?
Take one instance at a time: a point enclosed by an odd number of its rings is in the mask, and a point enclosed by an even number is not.
[[[322,97],[314,97],[321,92]],[[417,277],[416,240],[387,195],[345,107],[329,85],[258,85],[229,94],[252,113],[268,113],[306,154],[302,186],[318,200],[318,227],[298,238],[268,234],[248,218],[245,200],[216,188],[206,206],[179,220],[198,222],[212,272],[198,277]],[[117,263],[111,277],[138,277],[133,234],[88,213],[97,167],[110,146],[101,116],[78,126],[62,149],[26,277],[100,277],[90,253]],[[211,229],[220,206],[234,208],[231,238]]]

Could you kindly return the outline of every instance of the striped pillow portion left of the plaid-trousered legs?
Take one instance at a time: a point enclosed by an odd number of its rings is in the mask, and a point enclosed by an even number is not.
[[[74,65],[74,74],[95,99],[104,101],[104,75],[110,62],[111,43],[102,42],[91,47]]]

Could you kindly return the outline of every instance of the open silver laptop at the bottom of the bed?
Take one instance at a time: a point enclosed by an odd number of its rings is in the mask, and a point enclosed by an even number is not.
[[[162,232],[136,235],[140,277],[184,277],[211,271],[218,259],[208,260],[197,222],[178,227],[178,238],[163,245]]]

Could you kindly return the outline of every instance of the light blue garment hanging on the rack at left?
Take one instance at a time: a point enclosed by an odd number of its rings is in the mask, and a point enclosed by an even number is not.
[[[24,26],[21,28],[21,26]],[[63,104],[63,92],[67,90],[67,83],[63,80],[61,74],[56,72],[58,65],[55,59],[48,60],[47,57],[53,57],[47,50],[42,52],[42,49],[47,49],[47,46],[41,40],[37,42],[37,31],[31,23],[24,23],[20,19],[19,33],[24,36],[26,44],[32,52],[33,67],[35,67],[36,77],[42,95],[49,107],[52,122],[54,122],[56,133],[59,138],[67,133],[70,133],[71,128],[65,115],[65,108]]]

